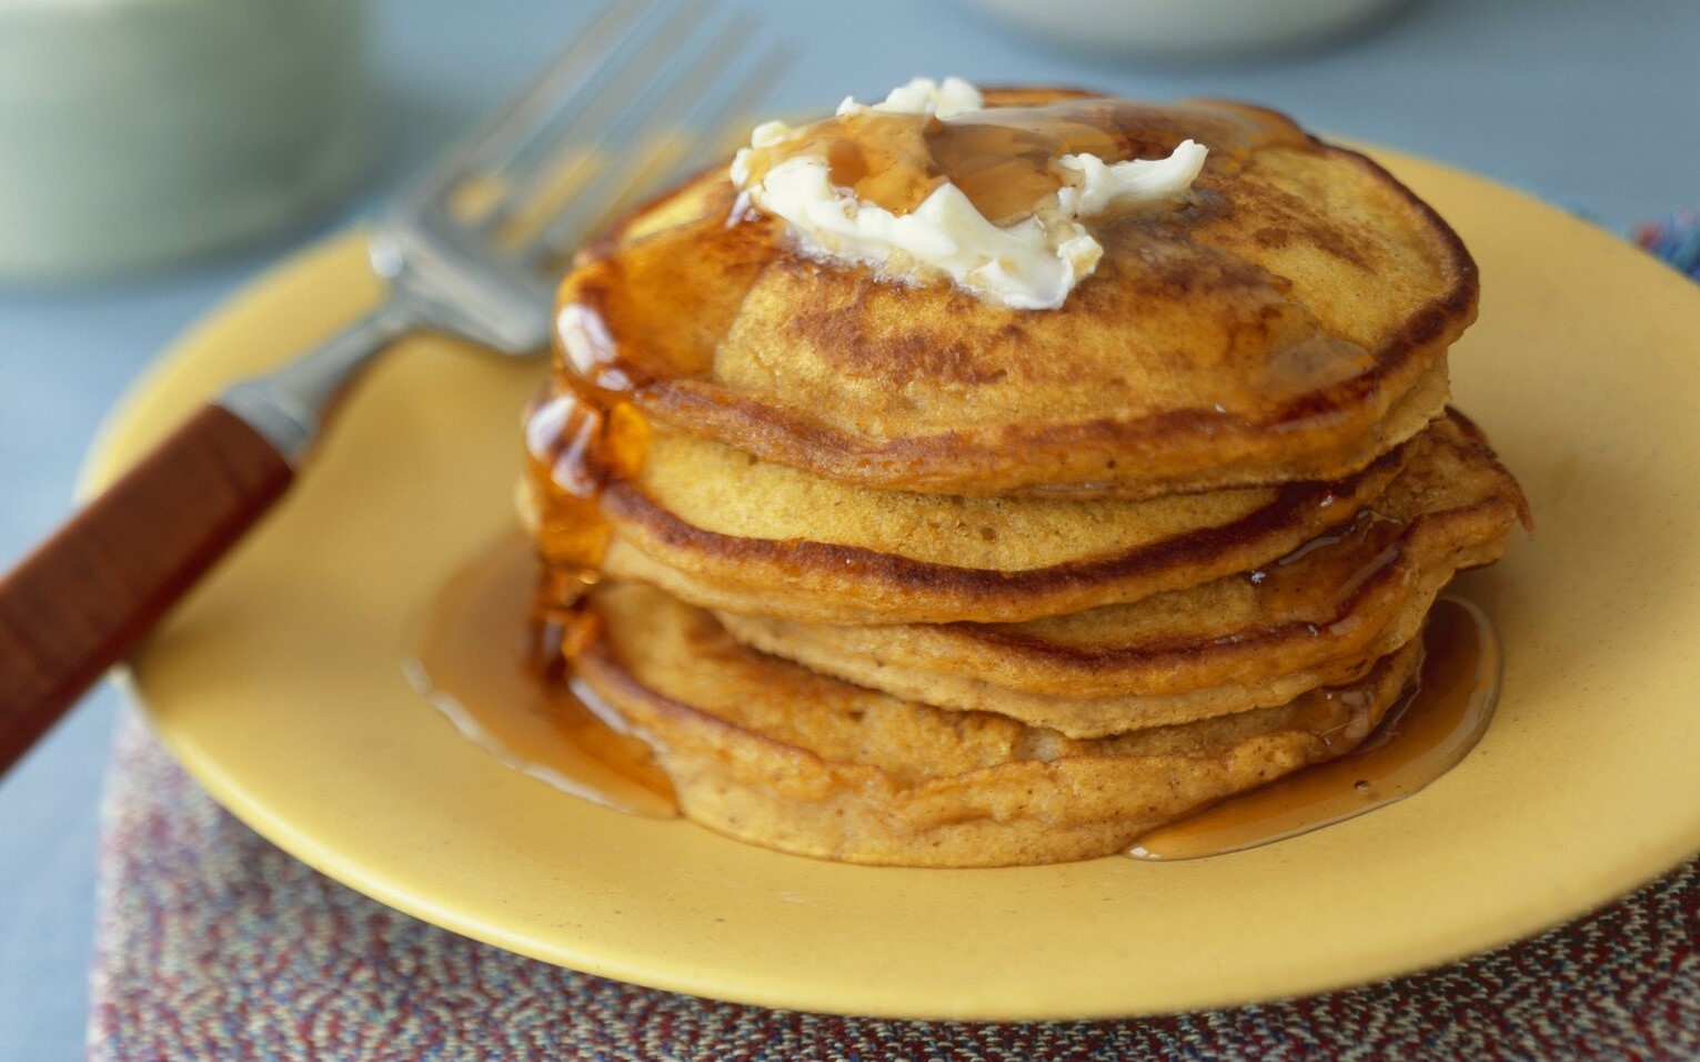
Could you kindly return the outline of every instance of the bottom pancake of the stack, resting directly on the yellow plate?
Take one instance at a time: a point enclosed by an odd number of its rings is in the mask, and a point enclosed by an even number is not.
[[[1188,810],[1348,752],[1413,679],[1183,727],[1074,740],[867,691],[734,642],[643,584],[597,587],[573,665],[656,749],[690,820],[850,863],[1003,866],[1125,849]]]

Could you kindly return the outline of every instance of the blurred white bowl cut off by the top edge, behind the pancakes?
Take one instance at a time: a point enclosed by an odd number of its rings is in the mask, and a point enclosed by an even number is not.
[[[1311,44],[1408,0],[962,0],[1057,44],[1195,60]]]

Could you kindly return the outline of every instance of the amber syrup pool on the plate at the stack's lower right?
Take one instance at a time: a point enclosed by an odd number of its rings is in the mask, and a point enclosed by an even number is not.
[[[1418,686],[1357,751],[1153,831],[1129,854],[1197,859],[1295,837],[1404,800],[1476,747],[1499,696],[1499,638],[1474,604],[1442,599]]]

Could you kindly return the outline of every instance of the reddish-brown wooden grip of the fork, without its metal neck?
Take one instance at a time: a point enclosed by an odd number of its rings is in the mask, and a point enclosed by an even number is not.
[[[0,774],[292,478],[270,442],[207,405],[0,580]]]

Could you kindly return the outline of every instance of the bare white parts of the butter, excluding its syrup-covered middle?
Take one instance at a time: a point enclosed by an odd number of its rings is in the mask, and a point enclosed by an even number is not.
[[[960,78],[915,78],[872,107],[847,99],[838,116],[872,109],[952,119],[981,106],[979,90]],[[833,186],[823,153],[784,158],[751,182],[750,151],[796,134],[784,123],[756,126],[750,148],[733,160],[731,179],[750,206],[782,218],[804,252],[869,264],[887,279],[920,283],[944,274],[983,300],[1018,310],[1056,310],[1098,267],[1103,245],[1083,220],[1180,196],[1207,155],[1190,140],[1154,160],[1105,163],[1093,155],[1062,155],[1054,162],[1056,194],[1035,203],[1028,216],[998,226],[949,180],[903,214],[860,201]]]

